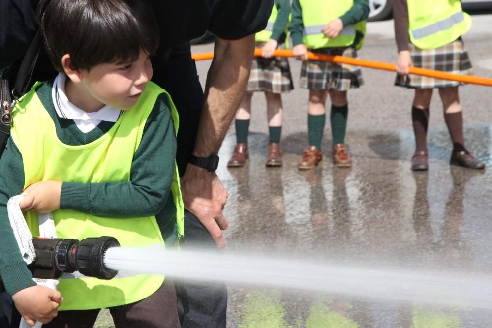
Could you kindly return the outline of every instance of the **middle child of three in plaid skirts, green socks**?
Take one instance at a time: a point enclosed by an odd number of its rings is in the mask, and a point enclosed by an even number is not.
[[[350,167],[352,160],[345,146],[347,90],[363,84],[359,67],[307,60],[307,50],[330,55],[357,57],[369,15],[368,0],[293,0],[289,25],[294,56],[304,60],[301,88],[309,89],[307,128],[309,147],[299,169],[311,169],[322,160],[321,144],[325,128],[325,102],[332,102],[332,158],[337,167]]]

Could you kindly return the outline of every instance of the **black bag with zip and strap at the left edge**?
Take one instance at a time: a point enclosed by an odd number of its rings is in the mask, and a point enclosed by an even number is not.
[[[10,88],[13,76],[13,68],[9,66],[0,71],[0,157],[5,150],[8,136],[10,135],[10,125],[12,124],[12,110],[19,98],[26,94],[30,87],[32,72],[36,66],[39,50],[41,49],[43,36],[38,30],[31,45],[26,52],[26,56],[19,66],[17,77],[13,88]]]

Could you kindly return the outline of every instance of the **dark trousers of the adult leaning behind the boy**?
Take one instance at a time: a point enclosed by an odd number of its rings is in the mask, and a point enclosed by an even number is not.
[[[169,56],[167,60],[163,58],[166,56]],[[170,54],[157,54],[153,68],[152,81],[169,92],[180,115],[176,161],[182,176],[195,146],[204,101],[189,43],[173,49]],[[189,211],[185,212],[184,235],[183,250],[192,247],[219,251],[205,227]],[[224,284],[197,284],[175,279],[175,286],[182,327],[226,326],[227,290]]]

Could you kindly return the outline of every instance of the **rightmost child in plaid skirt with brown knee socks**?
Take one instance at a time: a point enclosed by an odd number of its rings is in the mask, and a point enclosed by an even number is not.
[[[408,75],[410,66],[449,73],[469,74],[471,62],[461,35],[471,27],[471,17],[461,9],[460,0],[395,0],[395,38],[398,63],[395,85],[415,89],[412,104],[415,153],[412,170],[428,169],[427,127],[432,90],[439,89],[444,120],[453,142],[450,163],[469,169],[483,169],[464,146],[463,114],[455,81]]]

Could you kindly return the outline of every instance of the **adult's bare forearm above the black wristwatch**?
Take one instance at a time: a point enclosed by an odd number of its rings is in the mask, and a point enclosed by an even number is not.
[[[205,104],[193,154],[216,154],[246,89],[254,51],[254,35],[215,41],[214,60],[207,74]]]

